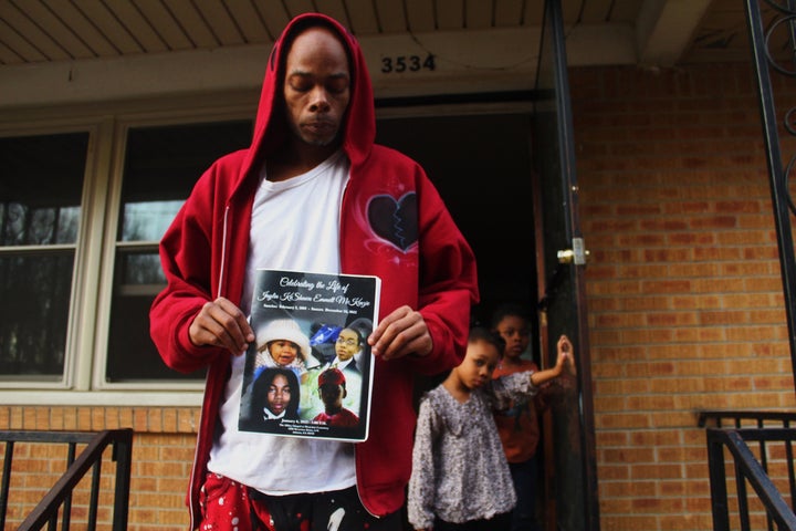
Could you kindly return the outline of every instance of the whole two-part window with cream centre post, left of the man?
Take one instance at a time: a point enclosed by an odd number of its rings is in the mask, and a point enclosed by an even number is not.
[[[166,367],[149,337],[149,306],[165,287],[158,242],[212,162],[249,146],[252,122],[126,134],[108,124],[0,137],[0,381],[9,388],[160,391],[205,376]],[[116,169],[112,153],[124,158]],[[113,270],[97,274],[97,256]]]

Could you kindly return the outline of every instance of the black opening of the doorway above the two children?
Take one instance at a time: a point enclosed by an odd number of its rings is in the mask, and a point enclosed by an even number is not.
[[[473,248],[481,292],[473,320],[484,325],[496,304],[534,309],[538,300],[531,121],[523,113],[462,113],[377,125],[379,144],[422,165]]]

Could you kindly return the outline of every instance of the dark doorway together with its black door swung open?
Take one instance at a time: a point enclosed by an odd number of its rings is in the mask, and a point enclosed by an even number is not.
[[[561,1],[546,0],[533,111],[520,105],[513,112],[478,113],[462,105],[470,112],[429,116],[433,111],[426,108],[420,117],[380,119],[377,142],[423,165],[470,241],[481,291],[473,320],[488,323],[503,301],[527,304],[537,314],[533,337],[540,339],[534,345],[541,352],[532,357],[541,367],[548,366],[542,358],[555,360],[548,337],[566,332],[574,340],[577,373],[544,424],[542,459],[555,480],[544,492],[543,518],[547,530],[599,531],[587,251],[577,208],[565,41]],[[572,260],[562,258],[567,253]],[[523,261],[524,256],[533,259]]]

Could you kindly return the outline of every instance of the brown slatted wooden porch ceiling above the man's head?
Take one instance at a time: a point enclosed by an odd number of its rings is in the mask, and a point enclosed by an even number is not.
[[[568,31],[590,42],[631,32],[636,62],[670,66],[750,59],[742,0],[563,0]],[[544,0],[4,0],[3,66],[109,60],[273,42],[287,20],[321,11],[362,40],[468,39],[538,28]],[[579,63],[600,63],[599,45]]]

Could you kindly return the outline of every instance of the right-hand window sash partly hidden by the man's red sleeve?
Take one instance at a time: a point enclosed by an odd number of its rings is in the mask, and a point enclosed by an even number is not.
[[[133,127],[118,211],[107,383],[196,381],[160,360],[149,337],[149,306],[165,287],[158,241],[199,176],[221,155],[251,143],[250,121]]]

